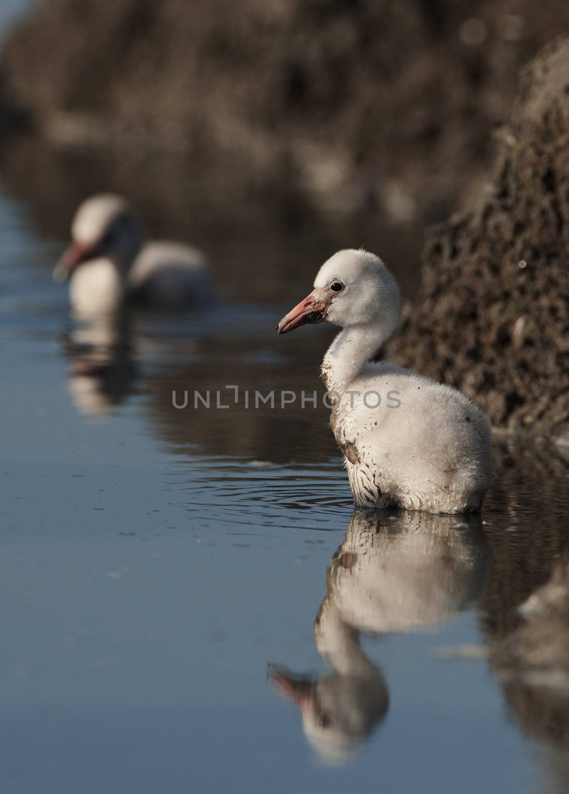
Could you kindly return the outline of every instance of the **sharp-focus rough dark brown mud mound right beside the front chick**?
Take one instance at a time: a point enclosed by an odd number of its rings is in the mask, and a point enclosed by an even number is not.
[[[569,39],[526,67],[489,187],[434,227],[389,355],[569,441]]]

